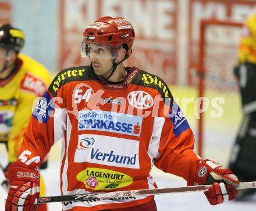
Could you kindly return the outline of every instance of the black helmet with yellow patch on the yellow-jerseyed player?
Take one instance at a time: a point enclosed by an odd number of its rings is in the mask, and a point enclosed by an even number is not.
[[[0,47],[19,53],[24,46],[23,31],[14,28],[10,24],[0,25]]]

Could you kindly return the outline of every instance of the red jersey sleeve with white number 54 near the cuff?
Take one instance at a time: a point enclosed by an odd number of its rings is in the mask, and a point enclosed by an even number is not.
[[[38,163],[40,166],[52,145],[65,134],[66,103],[62,88],[57,92],[53,87],[54,83],[38,101],[24,133],[18,161],[27,165]]]

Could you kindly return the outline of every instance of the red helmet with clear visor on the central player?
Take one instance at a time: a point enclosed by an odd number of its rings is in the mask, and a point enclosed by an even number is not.
[[[101,17],[84,30],[84,39],[81,45],[83,57],[89,55],[88,44],[106,44],[112,47],[112,58],[117,58],[120,47],[126,49],[127,59],[131,54],[131,47],[135,38],[133,26],[123,17]]]

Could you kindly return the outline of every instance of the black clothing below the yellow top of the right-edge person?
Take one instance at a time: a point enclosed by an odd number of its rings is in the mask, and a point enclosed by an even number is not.
[[[229,168],[241,182],[256,179],[256,65],[244,63],[234,68],[239,83],[244,119],[234,143]],[[255,102],[255,103],[254,103]]]

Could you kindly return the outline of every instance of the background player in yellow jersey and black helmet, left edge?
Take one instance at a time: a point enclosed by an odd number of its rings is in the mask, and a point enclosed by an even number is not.
[[[22,30],[10,24],[0,26],[0,143],[8,149],[9,163],[17,160],[35,98],[44,94],[51,81],[44,66],[19,53],[24,41]],[[42,196],[44,192],[41,180]],[[45,211],[47,206],[40,205],[38,210]]]

